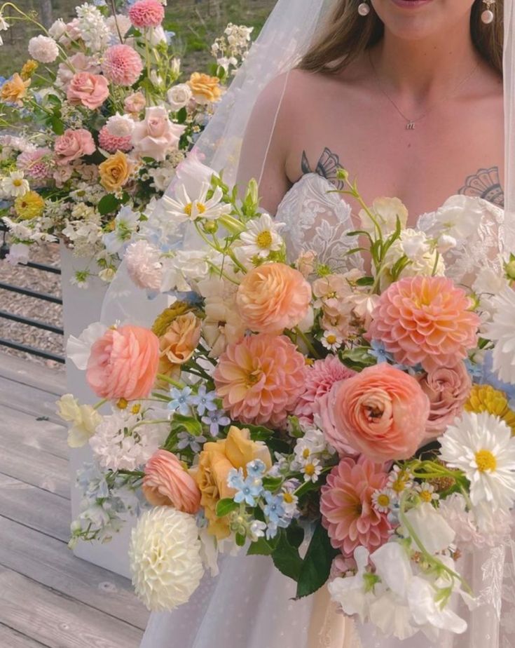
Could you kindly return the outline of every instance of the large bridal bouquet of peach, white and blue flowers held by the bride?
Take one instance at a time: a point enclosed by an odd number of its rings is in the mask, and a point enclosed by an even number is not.
[[[245,548],[299,598],[329,581],[345,614],[437,640],[467,627],[455,600],[476,605],[460,556],[509,533],[515,257],[467,292],[444,262],[474,222],[466,201],[424,234],[396,198],[369,208],[340,178],[362,210],[335,269],[289,257],[254,182],[240,200],[196,158],[181,165],[125,254],[168,306],[151,328],[95,324],[69,345],[111,404],[60,401],[71,445],[95,456],[72,543],[143,508],[130,560],[150,609]]]

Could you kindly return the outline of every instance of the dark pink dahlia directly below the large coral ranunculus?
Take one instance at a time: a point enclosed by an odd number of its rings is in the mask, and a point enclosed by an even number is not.
[[[387,542],[390,522],[372,505],[372,495],[386,485],[383,464],[345,457],[322,487],[320,511],[331,545],[350,558],[357,546],[373,552]]]

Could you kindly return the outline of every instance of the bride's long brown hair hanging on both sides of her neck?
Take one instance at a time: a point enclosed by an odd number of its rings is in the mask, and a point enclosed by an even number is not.
[[[383,38],[384,26],[375,11],[366,18],[357,6],[362,0],[341,0],[316,35],[298,67],[308,72],[337,73],[345,69],[364,50]],[[495,19],[490,25],[481,21],[483,0],[474,0],[470,14],[472,41],[488,64],[502,76],[503,5],[497,0]]]

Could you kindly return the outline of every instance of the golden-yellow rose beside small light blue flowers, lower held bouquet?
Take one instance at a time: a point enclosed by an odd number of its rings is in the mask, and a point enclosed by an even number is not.
[[[235,491],[227,484],[229,472],[242,468],[246,474],[247,464],[260,459],[270,470],[272,459],[268,447],[252,441],[247,429],[232,426],[226,439],[205,443],[200,453],[195,480],[200,488],[200,504],[204,507],[209,523],[207,531],[222,540],[231,533],[227,516],[217,516],[217,504],[221,499],[234,497]]]

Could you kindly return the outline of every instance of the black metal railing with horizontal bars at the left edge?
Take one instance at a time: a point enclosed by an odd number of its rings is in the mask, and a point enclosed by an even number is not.
[[[0,219],[0,233],[2,236],[2,243],[0,245],[0,259],[5,259],[9,252],[7,231],[8,229],[6,225]],[[58,275],[61,274],[60,268],[55,268],[53,266],[48,266],[42,263],[34,263],[32,261],[29,261],[24,265],[28,268],[34,268],[35,270],[39,270],[41,272],[50,272]],[[50,302],[52,304],[62,305],[62,299],[60,297],[55,297],[55,295],[48,295],[46,292],[39,292],[30,288],[22,288],[22,286],[5,283],[4,281],[0,281],[0,289],[8,290],[9,292],[16,292],[18,293],[18,295],[26,295],[27,297],[32,297],[33,299],[41,299],[42,302]],[[60,328],[59,326],[41,322],[40,320],[34,320],[22,315],[16,315],[15,313],[9,313],[8,311],[1,309],[0,318],[18,322],[20,324],[25,324],[27,326],[32,326],[34,328],[39,328],[41,330],[50,331],[52,333],[56,333],[57,335],[64,335],[64,330],[62,330],[62,328]],[[58,355],[57,353],[51,353],[50,351],[45,351],[44,349],[37,349],[36,347],[30,346],[29,344],[22,344],[21,342],[15,342],[11,339],[4,339],[3,337],[0,337],[0,346],[6,346],[8,349],[16,349],[17,351],[25,351],[25,353],[30,353],[32,356],[39,356],[39,358],[46,358],[46,360],[54,360],[57,363],[64,363],[64,357]]]

